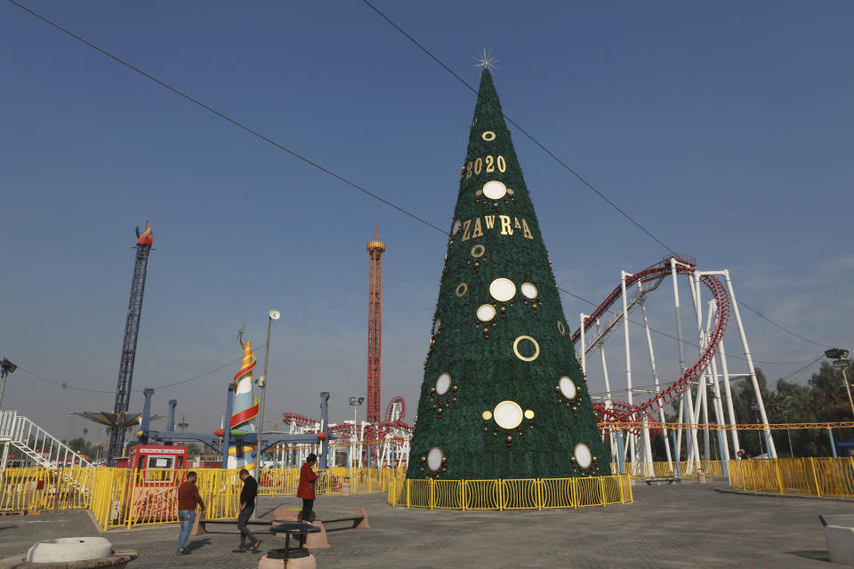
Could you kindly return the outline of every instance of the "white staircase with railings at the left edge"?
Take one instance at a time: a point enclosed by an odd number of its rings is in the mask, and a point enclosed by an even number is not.
[[[4,445],[3,463],[5,468],[9,446],[23,453],[34,464],[45,469],[57,469],[65,482],[81,492],[89,493],[85,478],[73,476],[70,469],[85,469],[92,464],[83,456],[75,453],[60,439],[53,437],[27,417],[16,411],[0,411],[0,444]]]

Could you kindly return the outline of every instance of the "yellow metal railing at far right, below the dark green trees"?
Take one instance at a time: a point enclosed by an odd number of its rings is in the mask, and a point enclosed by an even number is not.
[[[740,490],[854,498],[854,457],[729,461],[729,471]]]

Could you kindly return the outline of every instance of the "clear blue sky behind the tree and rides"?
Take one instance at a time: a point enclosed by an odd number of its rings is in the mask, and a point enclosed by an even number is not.
[[[367,5],[27,4],[449,227],[475,97]],[[741,300],[819,343],[854,348],[854,4],[376,5],[471,84],[472,56],[491,49],[508,116],[700,268],[730,268]],[[341,421],[347,396],[365,391],[365,245],[379,226],[383,409],[402,395],[411,420],[445,237],[7,2],[0,77],[0,356],[69,386],[114,390],[133,228],[151,220],[157,250],[133,389],[238,358],[238,328],[260,345],[267,310],[278,308],[267,418],[317,415],[318,392],[329,390]],[[598,303],[621,269],[665,255],[511,130],[561,286]],[[653,325],[672,333],[669,299],[658,296]],[[568,296],[563,307],[572,323],[592,309]],[[763,361],[822,351],[743,316]],[[661,342],[658,359],[673,365],[675,346]],[[728,335],[728,352],[738,348]],[[175,397],[191,429],[218,428],[237,367],[158,390],[155,412]],[[800,365],[761,367],[773,380]],[[83,429],[68,413],[110,410],[113,398],[19,371],[3,404],[63,437]],[[134,394],[132,409],[141,403]]]

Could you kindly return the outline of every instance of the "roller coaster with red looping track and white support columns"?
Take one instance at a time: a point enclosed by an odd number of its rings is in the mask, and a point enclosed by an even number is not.
[[[671,335],[670,338],[675,340],[678,346],[680,376],[676,381],[662,383],[659,381],[656,367],[656,356],[652,341],[653,330],[649,326],[646,303],[649,294],[656,291],[667,276],[671,277],[673,283],[676,335]],[[679,276],[683,276],[689,284],[693,311],[697,320],[697,343],[686,341],[683,335],[677,282]],[[725,284],[721,283],[721,277]],[[712,293],[712,298],[706,304],[705,325],[704,303],[701,295],[704,287]],[[615,305],[617,305],[616,310],[612,310]],[[636,309],[640,309],[642,322],[635,322],[629,318],[632,311]],[[739,357],[739,359],[743,359],[747,365],[746,373],[729,373],[723,338],[730,318],[733,316],[736,320],[744,353],[744,357]],[[649,354],[651,383],[644,381],[644,385],[641,387],[635,387],[632,382],[630,324],[639,325],[643,328],[646,350]],[[612,389],[608,377],[608,360],[605,357],[605,341],[620,325],[623,326],[624,331],[625,388]],[[733,455],[736,455],[735,451],[740,447],[738,433],[734,427],[737,421],[733,411],[729,382],[743,378],[749,378],[753,387],[753,395],[756,398],[756,405],[761,416],[762,430],[769,457],[777,458],[777,450],[774,446],[774,440],[769,434],[768,417],[765,413],[761,389],[756,378],[756,370],[753,367],[753,357],[747,345],[745,328],[738,312],[729,269],[702,271],[697,269],[697,261],[693,258],[685,255],[673,255],[637,273],[622,271],[620,284],[608,295],[605,301],[602,301],[591,315],[580,315],[580,326],[573,333],[572,339],[576,342],[578,359],[588,379],[592,379],[592,374],[588,369],[587,357],[592,354],[594,349],[598,349],[600,353],[601,379],[605,384],[605,392],[598,394],[599,400],[594,403],[593,407],[600,414],[602,419],[600,426],[603,428],[603,433],[607,433],[610,439],[612,459],[615,462],[622,464],[628,460],[633,463],[651,463],[653,461],[651,433],[664,435],[667,461],[679,460],[677,457],[681,455],[683,430],[679,429],[677,432],[671,433],[671,437],[668,437],[667,429],[664,426],[664,423],[667,422],[664,407],[673,402],[678,402],[679,405],[678,419],[675,422],[687,423],[691,426],[687,430],[688,436],[685,440],[687,445],[685,454],[688,461],[701,460],[700,445],[697,440],[698,431],[703,432],[704,460],[710,460],[712,448],[709,440],[710,425],[714,425],[712,429],[718,433],[716,442],[719,457],[717,458],[721,461],[729,460],[730,451],[729,444],[724,436],[725,430],[729,430]],[[697,360],[692,365],[687,365],[689,360],[685,353],[686,343],[698,349]],[[721,391],[723,396],[721,396]],[[649,398],[636,403],[635,395],[639,393],[644,394],[645,397],[649,396]],[[626,400],[616,400],[617,394],[624,394]],[[724,405],[726,406],[726,413]],[[712,421],[710,421],[710,406],[714,413]],[[729,427],[725,429],[725,425],[729,425]],[[626,448],[623,448],[622,444],[623,429],[628,431],[629,437]]]

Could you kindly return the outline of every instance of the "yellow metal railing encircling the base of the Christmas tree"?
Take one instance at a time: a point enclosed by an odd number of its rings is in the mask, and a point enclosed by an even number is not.
[[[395,480],[391,506],[439,509],[552,509],[624,504],[633,500],[632,477],[519,480]]]

